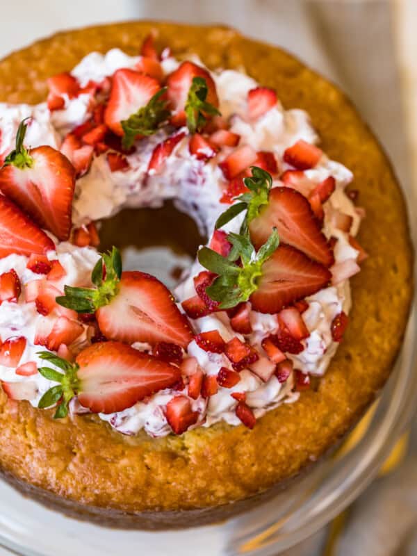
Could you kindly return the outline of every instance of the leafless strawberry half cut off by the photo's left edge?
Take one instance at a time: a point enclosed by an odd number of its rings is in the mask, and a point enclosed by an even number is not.
[[[16,253],[30,256],[54,250],[54,242],[13,202],[0,196],[0,257]]]

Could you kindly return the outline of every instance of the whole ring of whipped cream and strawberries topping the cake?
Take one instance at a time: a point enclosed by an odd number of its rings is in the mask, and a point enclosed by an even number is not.
[[[151,436],[221,420],[252,428],[295,402],[336,352],[366,256],[354,240],[363,211],[345,193],[352,174],[315,146],[308,115],[243,72],[158,56],[150,39],[142,56],[86,56],[49,90],[38,106],[0,104],[9,397]],[[175,302],[146,269],[120,279],[117,252],[95,248],[95,222],[165,199],[208,237]],[[58,372],[76,377],[70,394]]]

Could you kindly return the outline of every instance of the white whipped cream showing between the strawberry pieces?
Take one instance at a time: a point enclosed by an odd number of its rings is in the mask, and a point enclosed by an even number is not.
[[[121,67],[134,67],[138,56],[127,56],[119,49],[108,51],[102,55],[93,52],[85,56],[72,74],[83,87],[89,81],[101,82],[106,76],[112,75]],[[168,74],[176,69],[179,62],[174,58],[166,58],[162,62],[163,71]],[[201,63],[200,63],[201,64]],[[280,170],[289,166],[282,161],[282,155],[287,147],[297,140],[318,142],[318,136],[309,123],[309,117],[304,111],[284,111],[280,104],[259,117],[255,122],[247,120],[247,92],[257,83],[242,72],[225,70],[212,73],[220,99],[220,111],[224,117],[231,118],[231,131],[240,135],[240,145],[250,145],[256,151],[273,152],[280,163]],[[74,99],[65,98],[62,110],[49,112],[46,103],[37,106],[0,104],[1,148],[0,157],[8,154],[13,147],[19,122],[24,117],[31,116],[26,135],[26,144],[31,147],[51,145],[59,148],[66,133],[90,117],[90,95],[79,95]],[[179,130],[181,131],[181,130]],[[183,131],[186,131],[184,129]],[[124,171],[111,172],[102,154],[94,158],[87,174],[76,181],[72,220],[75,226],[92,220],[109,218],[124,207],[161,206],[165,199],[174,199],[178,208],[195,218],[200,229],[209,238],[213,231],[215,220],[227,205],[220,202],[224,189],[224,177],[218,166],[218,157],[209,161],[200,161],[192,156],[188,149],[187,135],[174,148],[172,154],[165,161],[162,173],[147,172],[149,160],[154,147],[172,133],[169,128],[161,129],[153,136],[136,143],[135,152],[129,154],[129,168]],[[224,147],[222,158],[233,149]],[[343,165],[329,160],[323,155],[318,165],[312,170],[304,172],[311,188],[325,178],[333,176],[336,180],[336,190],[325,203],[324,233],[327,238],[338,239],[335,249],[335,265],[352,259],[356,261],[358,251],[349,242],[348,234],[341,231],[334,224],[332,216],[340,211],[352,216],[350,235],[357,234],[360,216],[354,204],[345,195],[347,183],[352,180],[352,174]],[[282,186],[276,179],[273,187]],[[236,231],[240,228],[241,217],[237,217],[224,229]],[[60,284],[54,286],[62,289],[64,284],[71,286],[92,286],[90,273],[98,259],[98,254],[90,247],[76,247],[70,243],[57,243],[56,252],[48,254],[49,259],[58,259],[65,268],[67,275]],[[22,281],[22,286],[34,279],[42,279],[43,275],[35,275],[26,268],[27,258],[10,255],[0,259],[0,274],[15,269]],[[187,276],[177,287],[175,295],[178,302],[195,295],[193,277],[205,270],[195,261],[188,270]],[[3,341],[12,336],[24,336],[26,349],[20,364],[27,361],[41,363],[37,353],[43,348],[35,345],[36,329],[40,321],[48,319],[36,311],[35,303],[26,303],[24,299],[17,303],[3,302],[0,305],[0,337]],[[350,311],[350,286],[344,280],[322,289],[306,299],[309,308],[303,313],[303,320],[309,329],[310,336],[302,341],[304,350],[300,354],[288,354],[293,360],[295,368],[303,373],[322,375],[325,373],[337,349],[337,343],[332,339],[331,325],[334,317],[344,311]],[[181,309],[181,305],[179,304]],[[259,353],[262,353],[261,341],[265,336],[274,334],[279,327],[277,316],[270,314],[251,313],[252,334],[246,338]],[[229,317],[225,312],[213,313],[209,316],[192,320],[195,333],[217,329],[224,341],[234,336],[241,340],[245,338],[234,332]],[[91,327],[83,325],[83,333],[75,342],[74,351],[81,349],[90,342]],[[139,350],[149,350],[148,345],[135,344]],[[215,354],[202,350],[195,341],[188,345],[188,355],[195,357],[199,366],[207,375],[217,375],[220,367],[232,368],[229,359],[224,354]],[[30,382],[35,388],[35,397],[31,400],[34,406],[53,382],[38,373],[31,377],[16,375],[14,368],[0,366],[0,379],[7,382]],[[193,427],[208,427],[224,420],[230,425],[240,424],[235,414],[236,400],[231,393],[246,393],[246,402],[253,409],[256,418],[265,411],[277,407],[281,403],[295,402],[299,393],[294,391],[293,375],[280,383],[273,375],[268,382],[263,382],[252,371],[244,369],[240,372],[240,382],[231,389],[219,388],[218,393],[208,398],[201,396],[192,400],[193,411],[197,411],[199,418]],[[180,392],[186,395],[186,389]],[[117,414],[100,414],[117,431],[124,434],[136,434],[145,430],[152,436],[163,436],[171,432],[170,425],[165,418],[165,406],[178,391],[170,389],[160,391],[149,399],[138,402],[133,407]],[[73,413],[83,413],[85,409],[73,400],[70,409]]]

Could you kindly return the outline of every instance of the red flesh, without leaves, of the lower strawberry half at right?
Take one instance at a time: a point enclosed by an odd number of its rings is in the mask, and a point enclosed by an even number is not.
[[[278,313],[285,306],[318,292],[332,274],[289,245],[280,245],[262,266],[259,288],[250,301],[255,311]]]

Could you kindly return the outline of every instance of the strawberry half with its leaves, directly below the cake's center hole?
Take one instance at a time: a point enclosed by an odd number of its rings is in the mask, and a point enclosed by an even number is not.
[[[105,269],[105,278],[103,278]],[[187,347],[193,335],[170,291],[145,272],[122,272],[120,253],[113,247],[92,271],[96,288],[65,286],[56,302],[79,313],[96,313],[106,338],[126,343],[175,343]]]

